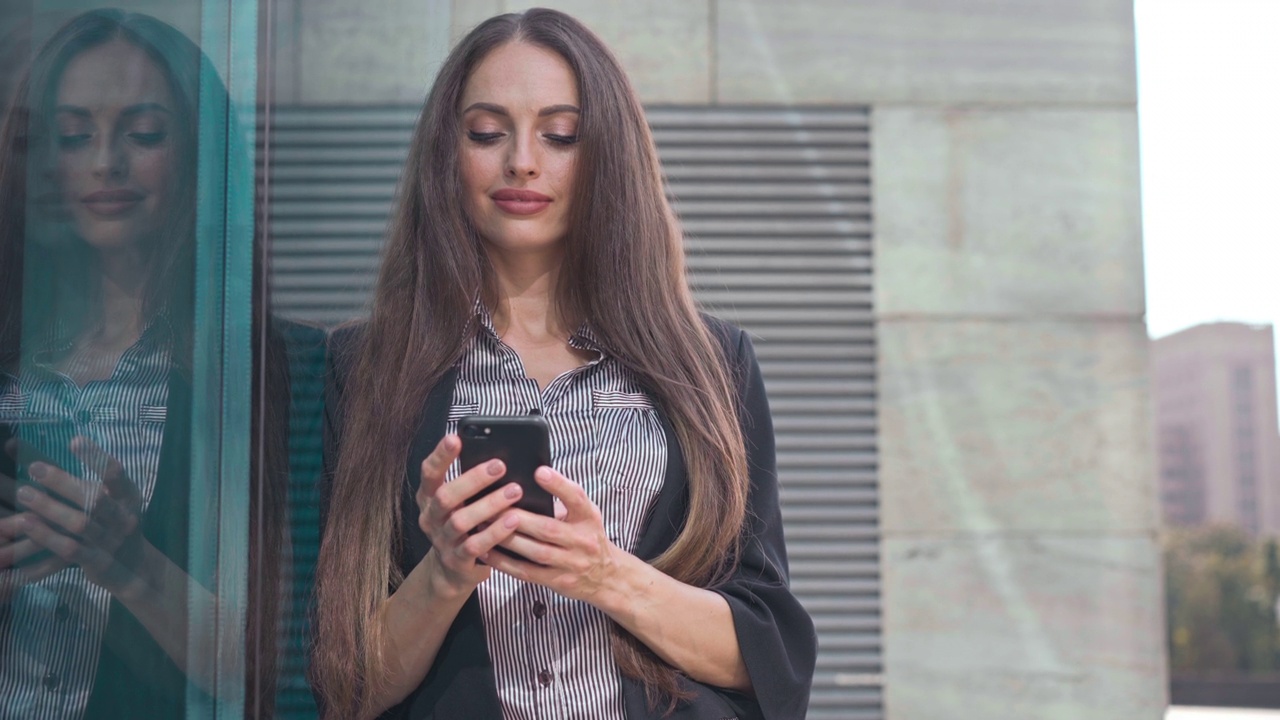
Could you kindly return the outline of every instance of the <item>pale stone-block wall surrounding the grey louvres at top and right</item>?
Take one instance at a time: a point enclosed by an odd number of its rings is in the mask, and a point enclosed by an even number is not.
[[[1161,717],[1132,0],[543,4],[649,104],[874,108],[888,717]],[[416,101],[525,6],[297,3],[282,99]]]

